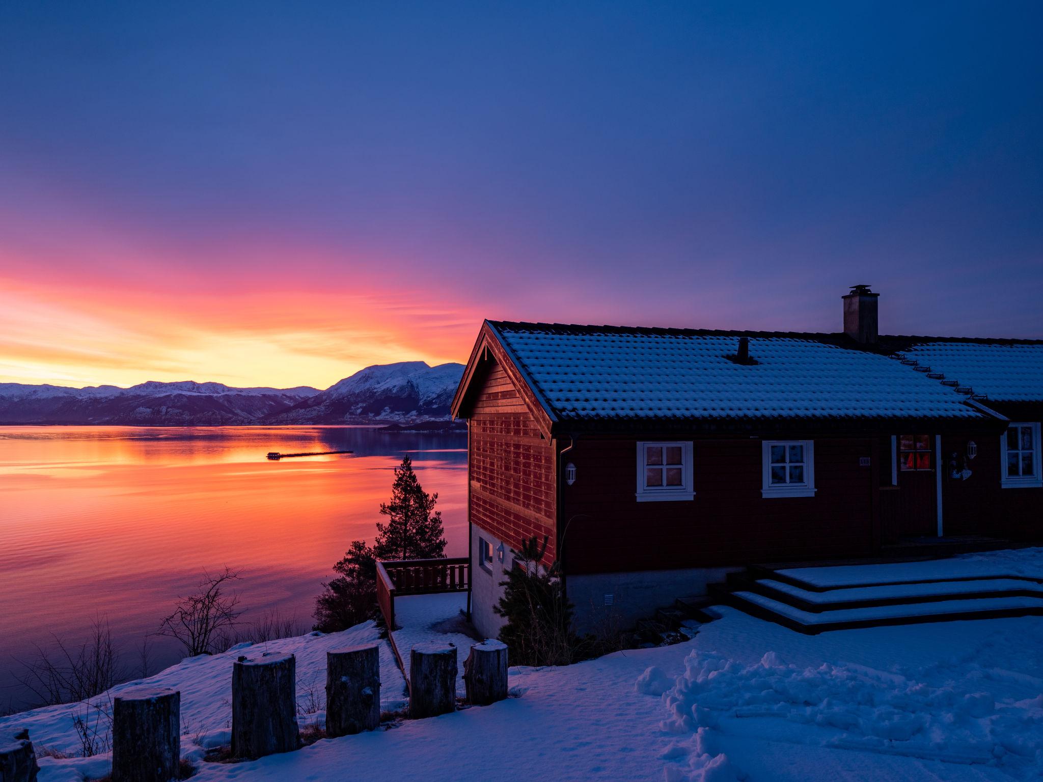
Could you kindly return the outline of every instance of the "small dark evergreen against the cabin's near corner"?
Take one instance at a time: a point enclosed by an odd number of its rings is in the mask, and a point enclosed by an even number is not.
[[[540,545],[533,537],[522,546],[507,581],[501,582],[504,594],[492,609],[507,619],[500,640],[518,665],[567,665],[575,657],[573,606],[561,588],[560,567],[557,562],[547,569],[539,564],[547,540]]]

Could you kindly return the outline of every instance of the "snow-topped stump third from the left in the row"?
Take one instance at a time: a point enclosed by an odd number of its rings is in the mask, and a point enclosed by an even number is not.
[[[297,660],[270,652],[232,665],[232,754],[261,758],[300,748]]]

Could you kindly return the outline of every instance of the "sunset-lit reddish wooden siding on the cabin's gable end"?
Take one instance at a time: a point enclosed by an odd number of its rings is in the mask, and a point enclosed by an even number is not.
[[[471,521],[518,549],[533,536],[550,538],[544,561],[555,558],[554,445],[500,364],[476,397],[468,425]]]

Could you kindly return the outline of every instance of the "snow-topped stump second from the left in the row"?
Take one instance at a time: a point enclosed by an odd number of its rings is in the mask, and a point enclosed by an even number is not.
[[[136,687],[113,699],[113,782],[170,782],[181,759],[181,693]]]

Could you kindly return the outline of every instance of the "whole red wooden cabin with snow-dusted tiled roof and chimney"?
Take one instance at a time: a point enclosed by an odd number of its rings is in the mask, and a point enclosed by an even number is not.
[[[467,419],[472,616],[489,637],[523,541],[549,540],[581,629],[728,569],[1043,524],[1043,341],[485,321]]]

